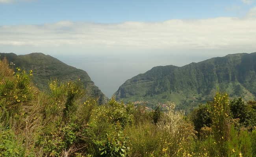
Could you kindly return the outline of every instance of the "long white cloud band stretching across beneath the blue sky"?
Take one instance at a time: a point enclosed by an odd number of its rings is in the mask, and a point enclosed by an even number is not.
[[[247,18],[174,19],[120,24],[61,21],[43,25],[0,26],[0,46],[256,48],[255,13],[256,8],[251,9]]]

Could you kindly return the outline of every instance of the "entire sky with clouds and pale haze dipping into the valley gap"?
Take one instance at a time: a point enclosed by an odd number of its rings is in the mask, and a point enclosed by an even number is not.
[[[256,0],[0,0],[0,52],[41,52],[111,97],[154,66],[256,51]]]

